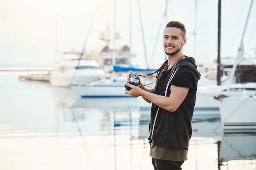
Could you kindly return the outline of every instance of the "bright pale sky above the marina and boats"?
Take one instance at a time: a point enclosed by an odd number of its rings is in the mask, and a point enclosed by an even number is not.
[[[236,57],[250,4],[222,0],[221,57]],[[256,55],[255,17],[256,2],[243,38],[249,57]],[[0,0],[0,66],[51,66],[66,51],[102,49],[100,33],[110,25],[111,38],[114,30],[120,34],[115,46],[128,45],[137,55],[134,64],[145,67],[147,56],[157,68],[165,61],[162,31],[171,20],[185,24],[184,55],[198,63],[217,58],[218,0]]]

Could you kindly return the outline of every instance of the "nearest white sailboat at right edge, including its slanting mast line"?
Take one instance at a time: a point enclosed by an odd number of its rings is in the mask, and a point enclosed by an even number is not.
[[[240,68],[241,62],[248,61],[243,58],[243,37],[252,3],[253,0],[249,8],[245,29],[240,42],[236,62],[232,68],[231,77],[235,75],[237,68]],[[247,82],[234,84],[232,79],[230,79],[227,90],[222,91],[215,97],[220,101],[220,118],[225,133],[256,132],[256,59],[252,61],[254,62],[244,69],[244,74],[236,77],[240,79],[247,77]],[[234,85],[236,85],[236,88],[233,88]]]

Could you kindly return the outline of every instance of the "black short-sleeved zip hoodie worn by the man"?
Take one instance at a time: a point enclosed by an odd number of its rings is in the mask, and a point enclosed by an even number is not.
[[[157,79],[163,74],[164,68],[157,73]],[[185,56],[172,70],[157,80],[155,94],[169,96],[171,84],[189,87],[189,92],[175,112],[164,110],[154,103],[151,104],[150,136],[148,137],[150,144],[165,148],[188,148],[192,135],[191,122],[199,79],[200,73],[194,58]]]

